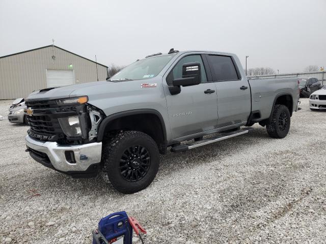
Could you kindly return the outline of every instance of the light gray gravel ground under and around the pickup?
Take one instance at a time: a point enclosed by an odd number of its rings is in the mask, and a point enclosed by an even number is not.
[[[0,101],[0,115],[10,102]],[[2,120],[0,242],[91,243],[100,218],[126,210],[148,230],[145,243],[325,243],[326,112],[308,102],[286,138],[255,125],[168,153],[151,186],[132,195],[34,162],[24,152],[28,127]]]

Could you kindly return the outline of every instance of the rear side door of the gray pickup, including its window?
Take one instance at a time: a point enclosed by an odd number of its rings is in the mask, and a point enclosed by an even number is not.
[[[218,127],[247,121],[251,112],[250,86],[231,56],[206,54],[218,95]]]

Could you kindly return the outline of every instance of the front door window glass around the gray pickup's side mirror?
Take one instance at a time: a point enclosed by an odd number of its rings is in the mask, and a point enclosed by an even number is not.
[[[196,54],[196,55],[188,55],[185,56],[183,58],[181,58],[178,62],[178,64],[173,68],[173,70],[170,72],[170,74],[167,77],[167,83],[169,85],[172,85],[172,81],[174,79],[177,78],[182,78],[182,66],[183,64],[186,63],[192,63],[192,62],[198,62],[200,63],[200,67],[201,67],[201,82],[207,82],[207,77],[206,77],[206,72],[205,72],[205,67],[203,64],[203,60],[202,57],[200,56],[200,54]]]

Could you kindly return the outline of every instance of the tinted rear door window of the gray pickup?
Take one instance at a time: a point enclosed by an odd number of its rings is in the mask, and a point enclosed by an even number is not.
[[[208,55],[207,58],[214,81],[239,79],[230,56]]]

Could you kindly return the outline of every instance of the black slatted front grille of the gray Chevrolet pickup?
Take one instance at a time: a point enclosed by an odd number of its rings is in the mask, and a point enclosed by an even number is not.
[[[33,109],[33,114],[27,116],[30,136],[46,141],[57,141],[65,137],[59,124],[59,106],[55,100],[29,101],[25,105]]]

